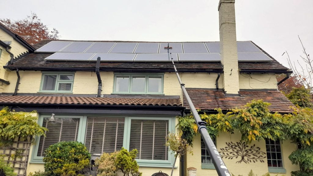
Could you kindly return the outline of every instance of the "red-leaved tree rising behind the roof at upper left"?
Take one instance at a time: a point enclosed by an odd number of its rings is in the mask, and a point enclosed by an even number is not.
[[[47,25],[41,22],[36,13],[25,19],[11,20],[0,19],[1,23],[10,28],[14,33],[23,37],[29,44],[36,44],[43,39],[59,39],[59,31],[53,28],[49,30]]]

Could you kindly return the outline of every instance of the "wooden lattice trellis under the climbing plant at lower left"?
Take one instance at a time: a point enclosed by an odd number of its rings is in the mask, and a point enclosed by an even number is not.
[[[22,141],[14,139],[13,143],[0,148],[0,154],[4,155],[4,161],[13,165],[17,176],[26,176],[31,140]],[[12,154],[14,156],[12,157]]]

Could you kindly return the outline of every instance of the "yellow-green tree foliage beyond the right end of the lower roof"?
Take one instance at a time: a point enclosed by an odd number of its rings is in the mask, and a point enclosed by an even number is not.
[[[300,107],[312,107],[312,97],[310,90],[304,86],[300,88],[294,88],[286,97],[295,105]]]

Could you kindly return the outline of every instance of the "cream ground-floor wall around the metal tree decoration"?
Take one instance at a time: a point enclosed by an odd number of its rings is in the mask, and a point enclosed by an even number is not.
[[[217,137],[217,148],[218,151],[220,152],[221,148],[227,147],[226,142],[239,142],[241,139],[241,136],[238,135],[238,132],[235,132],[235,134],[230,135],[227,133],[221,133]],[[194,167],[197,168],[197,176],[217,176],[216,170],[215,169],[202,169],[201,168],[201,138],[200,135],[197,134],[197,136],[194,138],[193,142],[193,155],[187,153],[187,168],[189,167]],[[266,148],[265,148],[265,141],[256,141],[252,142],[250,145],[255,144],[257,147],[260,147],[262,152],[266,153]],[[286,175],[286,176],[291,176],[290,172],[299,170],[299,166],[297,165],[292,165],[290,160],[288,159],[288,156],[292,151],[295,150],[296,146],[293,143],[290,143],[290,141],[284,141],[281,144],[282,147],[282,152],[283,152],[283,165],[284,168],[286,169],[285,174],[279,174],[279,175]],[[266,154],[264,155],[266,156]],[[263,175],[264,173],[268,172],[268,167],[267,167],[267,160],[264,158],[264,163],[261,162],[256,162],[256,163],[249,163],[246,164],[244,162],[242,163],[236,163],[236,161],[239,161],[240,159],[225,159],[223,158],[223,161],[225,162],[229,172],[233,173],[234,175],[238,174],[243,174],[246,175],[251,169],[253,172],[257,175]],[[277,175],[277,173],[271,173],[271,175]]]

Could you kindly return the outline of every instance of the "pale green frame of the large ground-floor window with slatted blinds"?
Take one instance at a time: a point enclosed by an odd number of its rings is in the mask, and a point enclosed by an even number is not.
[[[51,115],[40,115],[38,117],[38,124],[43,126],[44,118],[49,118]],[[80,118],[79,122],[79,129],[78,129],[78,137],[77,141],[85,143],[86,139],[86,128],[87,128],[87,121],[88,118],[124,118],[124,134],[123,134],[123,147],[127,150],[130,149],[130,135],[131,135],[131,120],[166,120],[168,121],[168,131],[175,132],[175,116],[122,116],[122,115],[115,115],[115,116],[105,116],[105,115],[81,115],[81,116],[62,116],[56,115],[55,118]],[[32,148],[31,160],[30,163],[43,163],[43,157],[37,156],[38,149],[39,149],[39,140],[40,137],[35,138],[35,145]],[[164,167],[164,168],[172,168],[172,164],[174,162],[174,155],[167,149],[167,160],[150,160],[150,159],[136,159],[137,163],[140,167]]]

